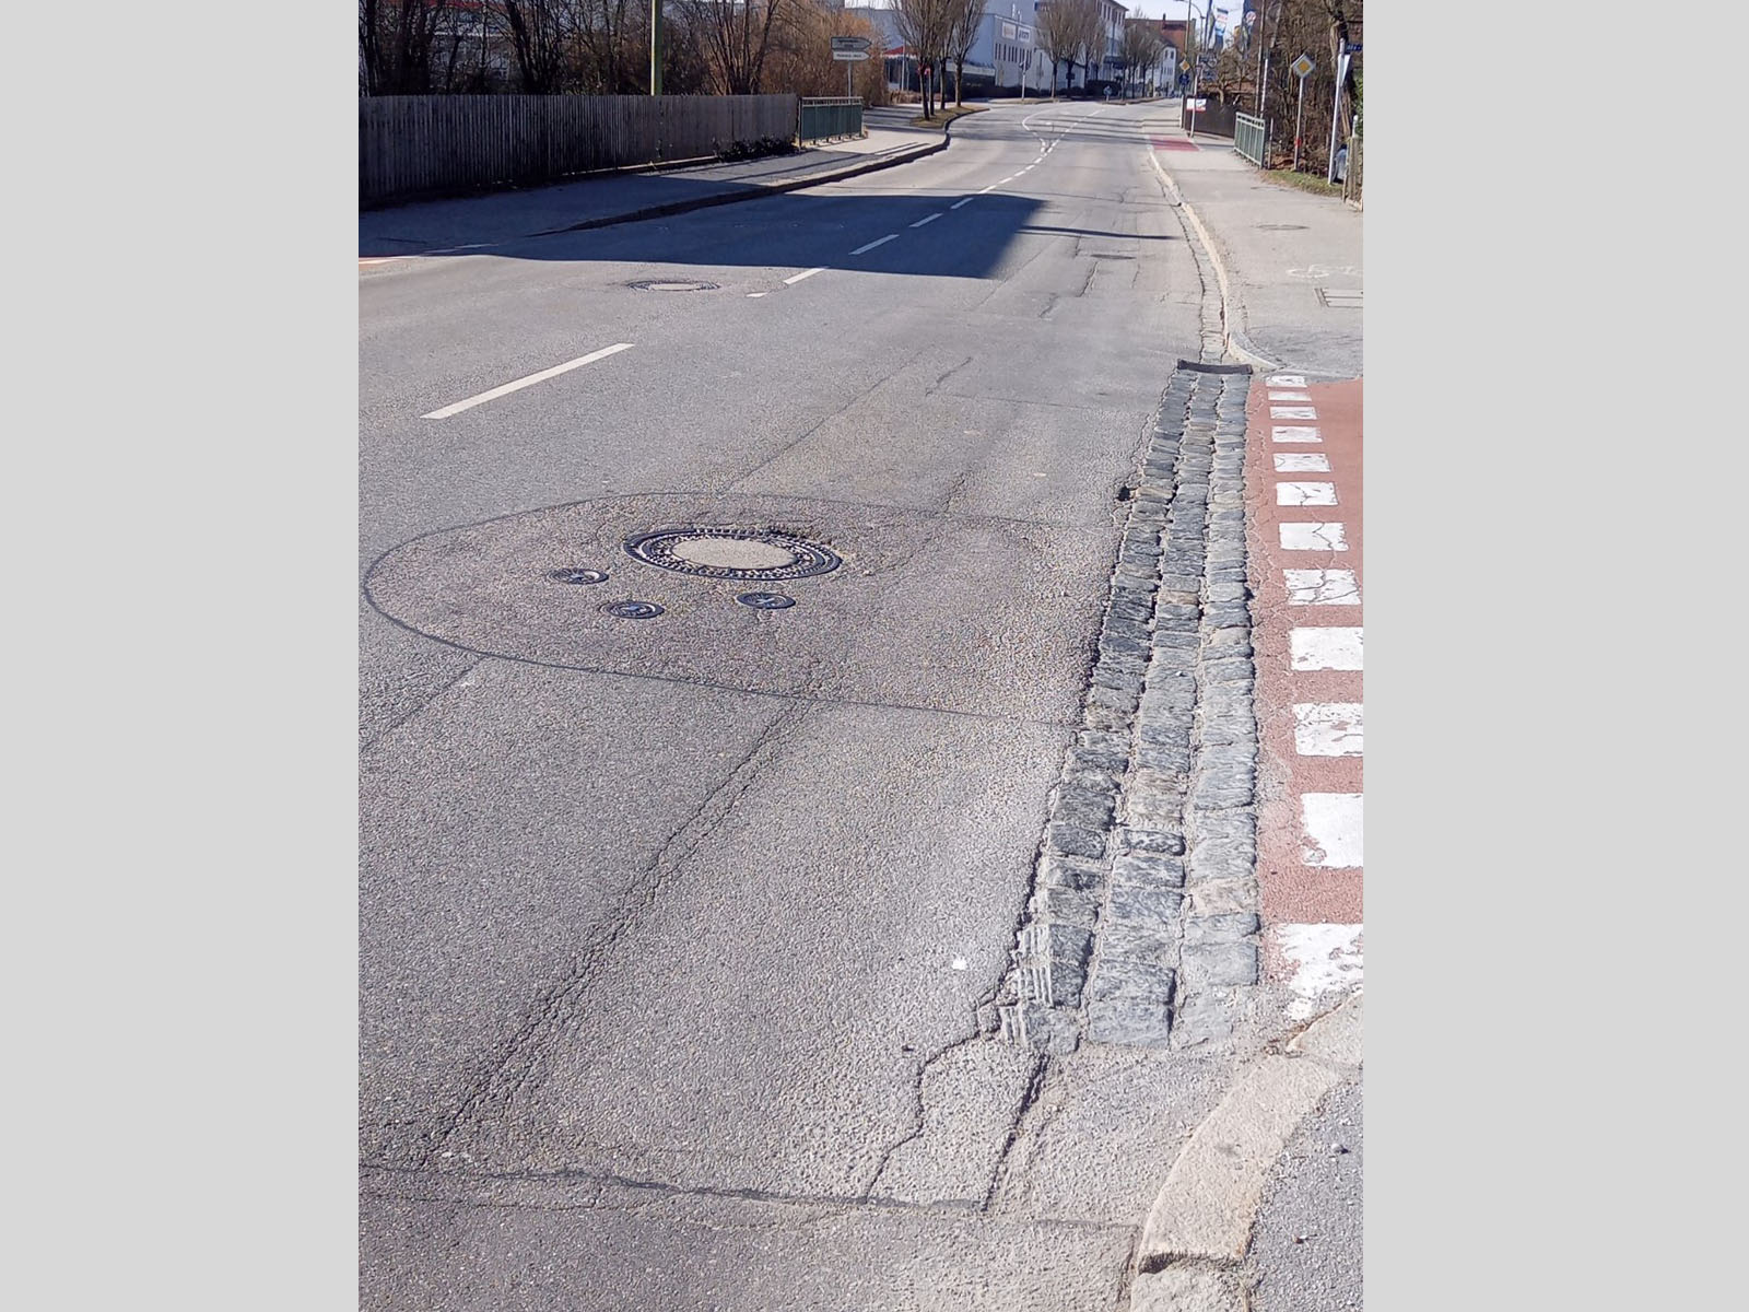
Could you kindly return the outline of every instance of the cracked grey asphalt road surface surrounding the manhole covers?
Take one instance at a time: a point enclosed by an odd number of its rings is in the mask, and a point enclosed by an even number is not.
[[[360,269],[366,1307],[1116,1307],[1221,1072],[978,1006],[1196,357],[1165,117]],[[687,525],[843,565],[621,548]]]

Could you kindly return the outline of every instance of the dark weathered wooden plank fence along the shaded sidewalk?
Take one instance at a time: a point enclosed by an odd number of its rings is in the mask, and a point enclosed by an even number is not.
[[[359,205],[794,140],[796,96],[360,96]]]

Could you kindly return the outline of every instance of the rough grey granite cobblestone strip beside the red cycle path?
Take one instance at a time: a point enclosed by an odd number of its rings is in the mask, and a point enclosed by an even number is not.
[[[995,999],[1009,1043],[1221,1043],[1258,981],[1249,385],[1179,360],[1161,397]]]

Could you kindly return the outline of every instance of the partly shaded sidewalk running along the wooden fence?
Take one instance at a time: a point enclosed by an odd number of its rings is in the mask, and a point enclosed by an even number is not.
[[[359,259],[380,262],[477,250],[542,233],[605,227],[773,196],[902,164],[944,149],[946,140],[934,129],[871,128],[864,138],[827,142],[791,156],[596,175],[528,191],[366,210],[359,215]]]

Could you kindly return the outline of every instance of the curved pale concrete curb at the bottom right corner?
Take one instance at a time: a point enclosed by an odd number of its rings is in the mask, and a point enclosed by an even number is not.
[[[1238,1079],[1184,1144],[1147,1212],[1135,1251],[1132,1307],[1200,1307],[1142,1302],[1142,1295],[1182,1284],[1188,1272],[1214,1272],[1228,1282],[1230,1268],[1251,1246],[1251,1226],[1263,1184],[1287,1141],[1324,1095],[1361,1069],[1362,994],[1355,992],[1308,1025],[1280,1053],[1268,1053],[1240,1071]],[[1168,1277],[1165,1282],[1156,1275]],[[1209,1284],[1198,1282],[1198,1288]],[[1223,1307],[1223,1303],[1209,1303]],[[1242,1307],[1242,1303],[1238,1303]]]

